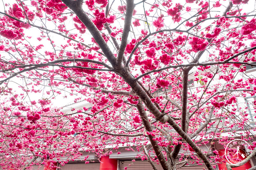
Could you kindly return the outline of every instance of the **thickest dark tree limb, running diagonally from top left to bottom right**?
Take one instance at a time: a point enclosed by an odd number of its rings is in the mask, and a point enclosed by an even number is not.
[[[65,3],[71,10],[73,10],[77,17],[84,23],[84,25],[87,27],[87,29],[92,33],[92,36],[94,37],[95,41],[100,46],[101,50],[105,54],[108,61],[111,63],[113,69],[115,72],[120,75],[128,85],[132,87],[134,92],[140,97],[140,99],[143,101],[143,103],[146,105],[148,110],[153,113],[153,115],[156,116],[156,119],[162,123],[168,122],[172,127],[183,137],[190,146],[196,151],[198,156],[204,161],[205,165],[208,169],[212,170],[211,163],[206,158],[204,153],[199,150],[199,148],[196,146],[196,144],[185,134],[185,132],[180,129],[180,127],[172,120],[172,118],[168,115],[163,115],[158,108],[152,103],[151,99],[148,97],[147,93],[140,87],[137,81],[134,80],[134,77],[129,73],[127,69],[125,69],[122,65],[116,64],[116,58],[110,51],[108,45],[100,35],[99,30],[96,28],[96,26],[92,23],[91,19],[87,16],[87,14],[82,10],[82,1],[73,1],[73,0],[63,0],[63,3]],[[120,52],[120,49],[119,49]],[[121,58],[119,59],[121,60]],[[129,61],[127,61],[129,63]],[[141,113],[142,110],[142,103],[140,102],[140,105],[138,105],[138,110],[140,109],[139,113]],[[144,111],[145,112],[145,111]],[[142,116],[142,115],[141,115]],[[148,128],[150,128],[149,126]],[[150,129],[147,129],[150,131]],[[151,144],[154,147],[158,147],[157,144],[154,144],[154,140],[150,140]],[[165,158],[162,155],[160,148],[154,149],[156,152],[156,155],[158,159],[160,160],[161,165],[164,167],[164,169],[170,169],[170,166],[168,166],[168,163],[166,162]]]

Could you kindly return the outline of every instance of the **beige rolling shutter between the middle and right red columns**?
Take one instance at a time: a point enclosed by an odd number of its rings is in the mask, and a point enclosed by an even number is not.
[[[131,166],[129,166],[129,164]],[[154,162],[157,170],[163,170],[162,166],[160,164],[156,164]],[[124,161],[122,164],[120,161],[120,170],[124,170],[124,167],[127,167],[127,170],[146,170],[146,169],[153,169],[152,166],[148,163],[146,160],[136,160],[135,162],[132,161]],[[180,169],[184,170],[203,170],[204,166],[190,166],[190,167],[182,167]]]

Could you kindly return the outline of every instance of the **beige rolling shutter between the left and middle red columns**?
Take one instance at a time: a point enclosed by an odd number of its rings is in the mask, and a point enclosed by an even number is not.
[[[89,164],[66,164],[60,166],[59,170],[99,170],[100,163],[89,163]]]

